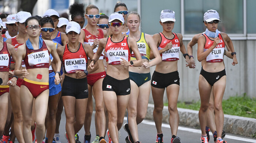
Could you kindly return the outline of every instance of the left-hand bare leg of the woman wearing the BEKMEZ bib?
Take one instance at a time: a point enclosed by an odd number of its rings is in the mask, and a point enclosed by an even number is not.
[[[76,98],[73,96],[62,96],[64,111],[66,115],[66,133],[70,143],[75,143],[75,103]]]

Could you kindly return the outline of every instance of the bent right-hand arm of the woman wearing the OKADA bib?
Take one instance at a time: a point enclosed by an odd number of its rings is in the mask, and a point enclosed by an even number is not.
[[[129,48],[133,51],[135,57],[137,60],[133,61],[133,66],[135,67],[140,67],[142,66],[142,59],[141,59],[141,54],[138,49],[137,42],[133,38],[127,37],[127,42],[129,45]],[[131,63],[126,61],[125,59],[121,58],[122,60],[120,61],[122,66],[131,66]]]

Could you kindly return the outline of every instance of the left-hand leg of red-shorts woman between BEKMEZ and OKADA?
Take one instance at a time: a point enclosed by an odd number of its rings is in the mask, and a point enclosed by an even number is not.
[[[84,121],[84,128],[85,128],[85,135],[90,135],[90,128],[92,122],[92,112],[93,112],[93,105],[92,105],[92,86],[88,84],[88,101],[86,107],[86,114],[85,114],[85,121]]]

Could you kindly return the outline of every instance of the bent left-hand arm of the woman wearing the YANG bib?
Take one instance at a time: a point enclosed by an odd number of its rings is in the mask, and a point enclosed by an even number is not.
[[[24,59],[24,57],[26,55],[26,46],[25,45],[26,44],[23,44],[23,45],[19,46],[17,49],[17,53],[19,53],[19,54],[16,54],[15,69],[14,69],[14,74],[16,76],[26,77],[29,74],[27,69],[20,70],[22,60]]]

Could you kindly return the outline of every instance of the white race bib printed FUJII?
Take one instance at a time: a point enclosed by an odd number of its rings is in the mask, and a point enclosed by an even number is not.
[[[214,48],[207,56],[206,62],[222,62],[224,50],[225,48]]]

